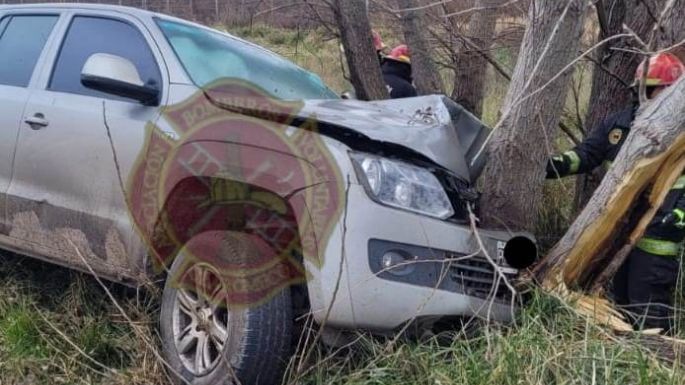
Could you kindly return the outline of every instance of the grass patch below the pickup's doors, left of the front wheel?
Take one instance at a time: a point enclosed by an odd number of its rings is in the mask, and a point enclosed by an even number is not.
[[[135,325],[91,277],[0,255],[0,384],[163,384],[156,301],[110,284]],[[85,382],[84,382],[85,381]]]

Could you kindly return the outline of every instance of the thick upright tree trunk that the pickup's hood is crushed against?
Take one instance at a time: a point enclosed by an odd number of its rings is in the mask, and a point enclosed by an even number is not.
[[[578,52],[587,7],[584,0],[531,2],[502,119],[488,145],[481,204],[484,225],[529,231],[535,227],[544,165],[572,71],[557,75]]]

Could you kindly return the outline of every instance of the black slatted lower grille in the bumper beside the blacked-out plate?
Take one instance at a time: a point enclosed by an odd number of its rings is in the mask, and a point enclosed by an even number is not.
[[[514,274],[505,273],[505,276],[510,282],[514,278]],[[484,299],[494,297],[503,301],[511,300],[511,290],[502,279],[497,282],[495,269],[485,258],[473,257],[453,262],[450,265],[450,277],[463,287],[467,295]],[[494,289],[496,283],[497,290]]]

